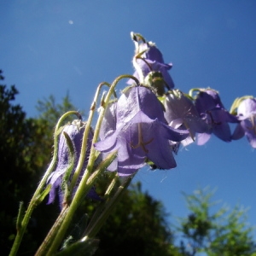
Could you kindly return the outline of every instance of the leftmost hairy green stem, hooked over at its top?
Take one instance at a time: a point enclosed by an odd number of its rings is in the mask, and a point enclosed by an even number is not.
[[[9,253],[9,256],[15,256],[16,253],[19,250],[20,247],[20,242],[24,236],[24,233],[26,231],[27,224],[31,218],[33,210],[38,206],[38,204],[42,201],[41,200],[41,192],[44,189],[44,185],[47,181],[47,178],[49,177],[49,174],[53,171],[55,167],[55,163],[57,160],[57,150],[58,150],[58,138],[57,138],[57,132],[61,126],[61,122],[63,119],[66,119],[68,115],[70,114],[76,114],[80,117],[80,114],[77,111],[69,111],[67,113],[64,113],[61,118],[59,119],[57,125],[55,126],[55,133],[54,133],[54,154],[53,154],[53,159],[50,162],[50,165],[47,169],[47,171],[44,174],[44,177],[41,179],[38,189],[35,191],[34,195],[32,196],[32,200],[29,203],[29,206],[27,207],[26,213],[24,215],[23,220],[21,221],[20,224],[20,230],[17,230],[17,234],[15,236],[15,241],[13,244],[13,247],[11,248],[11,251]]]

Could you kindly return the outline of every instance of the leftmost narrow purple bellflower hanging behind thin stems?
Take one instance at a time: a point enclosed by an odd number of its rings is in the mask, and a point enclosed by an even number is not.
[[[73,149],[74,149],[74,165],[73,165],[73,171],[71,173],[71,176],[69,178],[69,181],[71,177],[73,176],[73,172],[78,165],[79,162],[79,155],[81,152],[82,147],[82,139],[84,135],[84,127],[85,124],[80,120],[73,120],[72,124],[66,125],[61,131],[60,141],[59,141],[59,148],[58,148],[58,163],[55,168],[55,172],[52,172],[48,178],[48,183],[52,185],[50,191],[49,191],[49,201],[48,204],[55,201],[56,192],[59,196],[59,202],[60,206],[62,207],[62,201],[64,197],[64,190],[62,188],[62,178],[65,175],[65,172],[67,172],[67,168],[69,166],[69,158],[70,152],[69,148],[67,146],[67,140],[63,134],[65,131],[67,135],[70,137],[71,142],[73,143]],[[87,150],[84,160],[84,166],[83,171],[88,163],[88,158],[90,155],[90,147],[91,147],[91,141],[93,137],[93,132],[90,130],[89,137],[87,140]],[[80,174],[80,177],[82,177],[83,172]],[[74,190],[76,190],[75,188]],[[90,189],[90,192],[88,195],[90,198],[93,199],[100,199],[98,195],[96,195],[96,191],[94,188]]]

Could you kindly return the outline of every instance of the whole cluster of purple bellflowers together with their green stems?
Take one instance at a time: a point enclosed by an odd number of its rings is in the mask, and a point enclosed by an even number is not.
[[[229,112],[216,90],[197,88],[186,94],[174,89],[169,73],[172,63],[164,61],[156,44],[134,32],[131,32],[131,39],[135,44],[133,76],[124,75],[115,79],[113,84],[100,84],[86,122],[74,120],[63,126],[60,132],[62,120],[69,114],[79,116],[79,113],[64,113],[58,121],[53,160],[22,222],[22,214],[19,213],[17,226],[21,235],[15,238],[14,252],[20,245],[32,209],[44,200],[47,193],[48,203],[58,197],[62,211],[37,255],[55,254],[85,195],[101,201],[84,230],[84,238],[74,244],[73,249],[68,251],[69,255],[72,250],[89,245],[120,195],[131,183],[133,175],[143,166],[166,170],[175,168],[177,164],[173,153],[177,154],[180,145],[187,147],[193,142],[203,145],[212,134],[227,143],[245,136],[250,145],[256,148],[256,99],[253,96],[236,99]],[[120,79],[128,78],[129,85],[118,98],[115,86]],[[108,85],[108,92],[102,95],[93,131],[91,124],[96,102],[104,84]],[[234,131],[230,124],[236,124]],[[106,170],[117,174],[109,183],[103,198],[100,198],[94,185]],[[48,184],[46,189],[45,184]],[[91,251],[94,250],[95,247],[92,247]]]

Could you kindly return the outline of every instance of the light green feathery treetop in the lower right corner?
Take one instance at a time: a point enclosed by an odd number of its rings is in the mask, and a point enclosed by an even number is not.
[[[246,210],[235,207],[229,210],[220,207],[212,213],[216,204],[211,201],[213,192],[209,189],[195,190],[193,195],[185,195],[189,216],[180,218],[184,239],[181,241],[183,255],[252,255],[256,252],[253,228],[247,224]],[[187,246],[185,246],[187,245]]]

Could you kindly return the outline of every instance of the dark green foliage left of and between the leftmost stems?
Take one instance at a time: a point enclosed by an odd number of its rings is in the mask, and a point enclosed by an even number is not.
[[[2,71],[0,80],[3,80]],[[14,102],[17,94],[15,85],[8,89],[6,85],[0,84],[0,246],[3,255],[9,253],[15,239],[15,219],[20,201],[24,201],[26,208],[49,164],[53,144],[52,130],[55,125],[52,121],[54,112],[48,113],[47,108],[44,109],[44,115],[37,119],[26,118],[26,113]],[[50,101],[53,100],[50,97]],[[62,114],[61,110],[72,107],[67,97],[63,102],[63,109],[56,106],[58,115]],[[41,102],[41,106],[43,105]],[[32,216],[20,251],[26,255],[33,254],[55,221],[57,211],[57,207],[46,206],[44,201]]]

